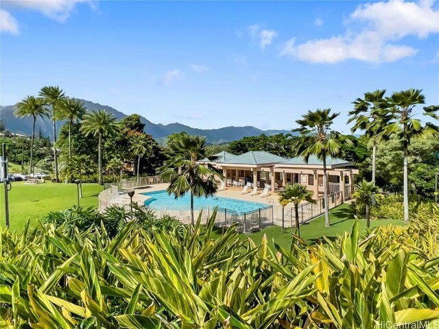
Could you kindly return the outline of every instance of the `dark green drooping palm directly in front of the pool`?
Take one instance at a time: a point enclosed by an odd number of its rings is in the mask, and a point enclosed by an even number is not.
[[[212,167],[206,167],[200,161],[206,158],[206,138],[182,134],[168,141],[167,157],[160,169],[161,179],[169,181],[167,193],[174,193],[176,198],[182,197],[188,191],[191,193],[191,222],[193,220],[193,197],[209,197],[217,191],[215,175],[220,179],[222,172]]]

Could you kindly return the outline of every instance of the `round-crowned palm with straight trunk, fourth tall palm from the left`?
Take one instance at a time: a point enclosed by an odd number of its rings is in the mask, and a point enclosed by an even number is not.
[[[99,164],[99,184],[104,185],[102,174],[102,137],[113,134],[118,126],[116,119],[105,110],[93,110],[84,115],[81,131],[88,135],[99,136],[97,159]]]

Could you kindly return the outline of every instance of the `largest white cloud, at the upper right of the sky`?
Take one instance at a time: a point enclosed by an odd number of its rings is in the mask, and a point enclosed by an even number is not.
[[[427,38],[429,34],[439,33],[439,11],[434,11],[429,1],[368,3],[360,5],[347,24],[348,29],[342,36],[309,40],[300,45],[292,38],[285,43],[281,55],[312,63],[337,63],[349,59],[394,62],[418,52],[413,47],[394,42],[405,36]]]

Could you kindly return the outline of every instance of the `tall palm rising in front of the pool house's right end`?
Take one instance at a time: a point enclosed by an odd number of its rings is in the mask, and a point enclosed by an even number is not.
[[[327,156],[335,157],[343,154],[340,144],[352,145],[352,142],[342,136],[339,132],[331,130],[333,120],[340,113],[331,113],[331,109],[317,109],[303,114],[301,120],[296,123],[300,126],[293,132],[300,132],[300,136],[292,145],[296,149],[297,156],[303,156],[308,162],[309,156],[316,155],[323,162],[323,191],[324,191],[324,225],[329,227],[328,208],[328,177],[327,177]]]

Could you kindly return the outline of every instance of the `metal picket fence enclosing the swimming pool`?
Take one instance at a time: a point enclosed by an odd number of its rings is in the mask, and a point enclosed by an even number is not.
[[[156,183],[158,184],[158,183]],[[124,206],[129,204],[127,195],[119,191],[117,185],[109,185],[104,191],[99,193],[99,211],[105,212],[109,206]],[[328,195],[329,209],[342,204],[342,194],[340,191]],[[306,223],[324,213],[324,197],[316,199],[315,204],[309,202],[298,206],[299,224]],[[191,208],[189,206],[159,206],[154,207],[157,217],[169,215],[176,217],[182,223],[191,223]],[[207,206],[193,210],[195,220],[201,216],[202,223],[207,223],[215,207]],[[283,208],[275,204],[268,204],[265,207],[249,212],[239,212],[230,209],[218,208],[215,217],[215,226],[219,228],[229,228],[237,223],[237,230],[241,233],[248,233],[259,230],[269,225],[282,226],[283,228],[294,228],[296,226],[296,214],[294,206]]]

